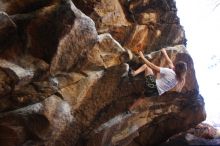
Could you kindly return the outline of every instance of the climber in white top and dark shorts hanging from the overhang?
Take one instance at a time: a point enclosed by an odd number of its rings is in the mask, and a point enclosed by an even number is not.
[[[159,96],[169,90],[181,92],[185,84],[187,64],[183,61],[178,61],[174,66],[173,62],[167,55],[166,50],[163,48],[161,49],[161,52],[168,63],[167,68],[159,67],[151,63],[144,57],[141,51],[139,51],[139,55],[145,64],[135,71],[129,68],[129,75],[133,77],[143,71],[145,72],[145,97]],[[129,110],[131,111],[142,101],[143,99],[138,99]]]

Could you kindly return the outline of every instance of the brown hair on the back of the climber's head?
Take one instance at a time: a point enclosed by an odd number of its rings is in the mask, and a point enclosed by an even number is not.
[[[184,76],[186,74],[186,71],[187,71],[187,64],[186,64],[186,62],[178,61],[175,64],[174,71],[176,73],[177,80],[179,80],[179,81],[183,80],[183,78],[184,78]]]

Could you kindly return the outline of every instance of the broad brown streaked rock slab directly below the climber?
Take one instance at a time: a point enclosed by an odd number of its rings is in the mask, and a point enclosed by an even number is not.
[[[120,114],[114,117],[97,128],[91,140],[94,140],[96,145],[122,145],[124,139],[138,132],[139,134],[135,134],[135,141],[139,144],[159,144],[172,133],[195,126],[189,121],[194,120],[197,123],[204,120],[204,102],[200,101],[201,97],[197,97],[198,95],[194,96],[192,98],[190,94],[182,94],[173,98],[171,94],[166,94],[158,98],[145,99],[140,109],[136,109],[137,113]],[[158,133],[161,135],[158,136]],[[97,141],[96,137],[102,137],[102,139]]]

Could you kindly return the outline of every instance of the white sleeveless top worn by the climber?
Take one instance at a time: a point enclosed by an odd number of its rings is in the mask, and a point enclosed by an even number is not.
[[[176,73],[169,68],[160,68],[160,78],[156,79],[156,85],[159,95],[169,91],[177,85]]]

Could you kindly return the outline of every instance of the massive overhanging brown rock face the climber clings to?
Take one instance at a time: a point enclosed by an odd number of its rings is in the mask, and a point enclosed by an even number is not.
[[[206,117],[173,0],[0,0],[0,145],[158,145]],[[169,47],[168,47],[169,46]],[[188,66],[181,93],[142,97],[137,50]]]

